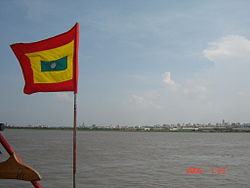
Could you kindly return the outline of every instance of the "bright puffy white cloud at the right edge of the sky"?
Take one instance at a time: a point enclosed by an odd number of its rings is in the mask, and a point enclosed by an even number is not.
[[[209,73],[220,87],[245,88],[250,80],[250,40],[244,36],[229,35],[209,44],[203,55],[215,67]],[[208,78],[205,78],[208,79]],[[240,89],[240,88],[239,88]],[[242,88],[241,88],[242,90]]]

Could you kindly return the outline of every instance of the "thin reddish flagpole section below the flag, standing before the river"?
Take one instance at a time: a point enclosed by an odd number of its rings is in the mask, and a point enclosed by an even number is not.
[[[74,130],[73,130],[73,188],[76,188],[76,93],[74,93]]]

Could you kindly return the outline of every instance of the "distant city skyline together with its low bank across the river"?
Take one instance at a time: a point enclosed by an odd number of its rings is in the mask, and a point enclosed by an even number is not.
[[[6,125],[8,129],[52,129],[52,130],[72,130],[72,126],[48,126],[48,125]],[[85,131],[153,131],[153,132],[250,132],[250,123],[228,123],[224,120],[216,124],[199,124],[199,123],[177,123],[177,124],[156,124],[156,125],[82,125],[78,130]]]

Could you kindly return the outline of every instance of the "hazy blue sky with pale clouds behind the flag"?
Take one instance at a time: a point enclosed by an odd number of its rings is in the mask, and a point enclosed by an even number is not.
[[[78,124],[250,122],[248,0],[1,0],[0,122],[71,126],[71,92],[23,93],[9,45],[80,23]]]

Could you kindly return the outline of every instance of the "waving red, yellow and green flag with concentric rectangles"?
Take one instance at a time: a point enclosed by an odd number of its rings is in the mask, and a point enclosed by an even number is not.
[[[10,45],[25,81],[24,93],[77,93],[79,24],[69,31],[33,43]]]

